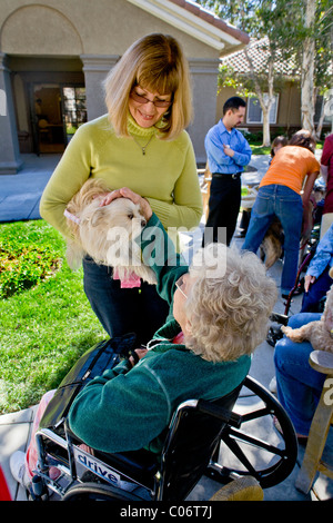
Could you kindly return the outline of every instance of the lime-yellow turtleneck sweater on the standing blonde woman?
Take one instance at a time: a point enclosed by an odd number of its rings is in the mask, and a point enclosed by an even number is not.
[[[104,115],[81,126],[69,142],[40,203],[42,218],[64,236],[64,208],[89,177],[103,179],[110,190],[129,187],[148,198],[165,228],[199,225],[202,197],[188,132],[161,140],[155,127],[144,129],[132,117],[128,129],[131,137],[117,137]],[[143,155],[138,144],[148,141]]]

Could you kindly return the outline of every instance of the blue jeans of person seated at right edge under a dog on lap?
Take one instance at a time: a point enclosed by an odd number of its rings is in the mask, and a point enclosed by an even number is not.
[[[321,318],[317,313],[295,314],[289,326],[299,328]],[[326,375],[309,364],[313,348],[310,342],[295,343],[283,337],[275,345],[274,364],[278,397],[297,434],[307,436]]]

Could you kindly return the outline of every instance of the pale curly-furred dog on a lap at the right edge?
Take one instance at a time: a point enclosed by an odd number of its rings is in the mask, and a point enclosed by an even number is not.
[[[333,278],[333,268],[330,270],[330,276]],[[301,343],[309,341],[314,351],[333,353],[333,285],[327,293],[325,308],[321,319],[294,329],[291,327],[281,327],[281,330],[292,342]]]

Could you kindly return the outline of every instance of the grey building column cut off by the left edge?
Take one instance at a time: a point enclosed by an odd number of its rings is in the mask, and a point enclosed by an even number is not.
[[[0,52],[0,175],[16,175],[21,167],[10,70]]]

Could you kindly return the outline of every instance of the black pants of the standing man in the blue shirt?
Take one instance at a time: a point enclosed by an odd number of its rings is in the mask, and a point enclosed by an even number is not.
[[[241,176],[213,175],[203,245],[218,240],[230,245],[240,211],[241,189]]]

